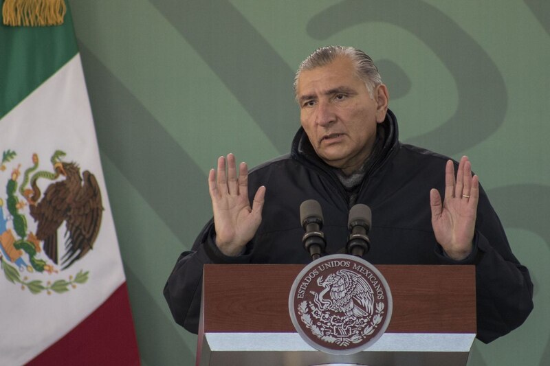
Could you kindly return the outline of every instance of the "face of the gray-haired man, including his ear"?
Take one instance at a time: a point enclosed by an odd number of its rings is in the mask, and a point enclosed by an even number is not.
[[[300,122],[317,155],[351,174],[371,154],[377,123],[384,122],[388,91],[376,87],[373,98],[355,76],[348,58],[302,71],[296,88]]]

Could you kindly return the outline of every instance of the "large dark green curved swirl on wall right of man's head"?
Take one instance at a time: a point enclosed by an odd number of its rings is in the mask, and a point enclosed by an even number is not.
[[[372,11],[373,4],[376,11]],[[331,21],[335,14],[346,23]],[[487,139],[503,123],[507,108],[507,93],[503,77],[483,48],[443,12],[423,1],[391,0],[342,1],[314,16],[307,32],[317,39],[326,39],[345,28],[369,21],[384,21],[404,28],[432,49],[450,71],[456,82],[459,101],[456,113],[441,126],[421,136],[408,139],[408,144],[444,151],[452,155]],[[445,29],[445,36],[434,30]],[[449,42],[452,39],[452,42]],[[464,77],[464,70],[468,77]],[[408,85],[401,80],[406,73],[384,76],[392,85]],[[399,79],[398,79],[399,78]],[[401,92],[402,91],[398,91]],[[491,95],[491,98],[486,98]],[[465,121],[483,121],[464,128]],[[460,139],[450,139],[451,136]]]

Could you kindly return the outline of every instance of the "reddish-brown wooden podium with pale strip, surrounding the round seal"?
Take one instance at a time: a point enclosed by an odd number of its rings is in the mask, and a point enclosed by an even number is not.
[[[362,352],[315,350],[296,332],[288,297],[301,264],[207,264],[196,365],[458,366],[476,336],[474,266],[378,265],[393,316]]]

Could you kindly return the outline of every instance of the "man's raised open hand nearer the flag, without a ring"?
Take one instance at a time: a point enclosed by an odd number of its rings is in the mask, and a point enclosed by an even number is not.
[[[248,167],[239,165],[239,177],[236,175],[235,157],[219,157],[217,173],[214,169],[208,174],[208,187],[212,198],[216,245],[225,255],[239,255],[258,230],[262,221],[262,209],[265,187],[258,188],[254,203],[250,207],[248,200]]]

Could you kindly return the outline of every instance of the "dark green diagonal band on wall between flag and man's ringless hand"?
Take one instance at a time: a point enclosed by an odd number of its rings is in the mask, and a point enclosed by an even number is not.
[[[201,207],[208,202],[206,189],[194,189],[197,182],[202,188],[206,176],[131,91],[82,42],[78,47],[85,75],[93,76],[86,83],[102,153],[113,161],[180,242],[186,242],[188,233],[198,232],[204,222],[197,215],[181,220],[181,209]],[[192,194],[177,194],[176,186],[186,187]]]

